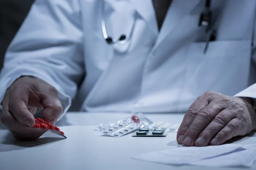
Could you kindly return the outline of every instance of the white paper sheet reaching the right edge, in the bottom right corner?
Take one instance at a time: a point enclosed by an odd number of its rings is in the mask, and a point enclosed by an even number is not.
[[[192,165],[210,166],[210,167],[251,167],[256,161],[256,148],[241,150],[224,156],[217,156],[212,159],[204,159],[192,163]]]

